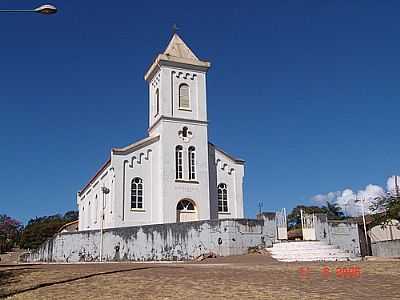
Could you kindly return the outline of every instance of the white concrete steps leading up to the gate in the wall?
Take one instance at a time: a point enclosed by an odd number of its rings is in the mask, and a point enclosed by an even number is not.
[[[267,248],[278,261],[349,261],[358,260],[337,246],[319,241],[278,242]]]

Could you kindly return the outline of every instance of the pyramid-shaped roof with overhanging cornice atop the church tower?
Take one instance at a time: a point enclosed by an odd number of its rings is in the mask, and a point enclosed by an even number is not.
[[[200,60],[177,33],[174,33],[165,51],[157,55],[144,75],[144,79],[151,80],[161,65],[191,68],[204,72],[211,66],[210,62]]]

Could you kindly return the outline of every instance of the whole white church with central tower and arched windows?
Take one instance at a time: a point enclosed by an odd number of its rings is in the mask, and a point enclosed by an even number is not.
[[[243,218],[244,161],[208,141],[209,68],[173,35],[144,76],[148,137],[113,148],[77,193],[79,231]]]

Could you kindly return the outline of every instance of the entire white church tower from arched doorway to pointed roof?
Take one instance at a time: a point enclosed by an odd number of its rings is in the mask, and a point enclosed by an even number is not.
[[[163,222],[208,220],[211,216],[206,97],[209,68],[210,63],[200,60],[175,33],[144,77],[149,85],[148,132],[160,137]]]

